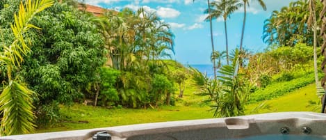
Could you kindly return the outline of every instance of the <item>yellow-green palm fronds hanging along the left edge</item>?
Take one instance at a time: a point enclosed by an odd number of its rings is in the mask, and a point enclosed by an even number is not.
[[[8,81],[3,84],[0,95],[0,112],[3,114],[0,126],[1,135],[26,134],[32,132],[35,127],[33,99],[31,98],[35,93],[19,79],[17,72],[24,61],[22,56],[31,52],[31,48],[27,46],[24,39],[28,29],[39,29],[30,24],[31,20],[36,13],[49,8],[53,3],[52,0],[26,0],[25,6],[22,2],[20,3],[18,15],[14,15],[15,24],[11,25],[11,29],[15,38],[11,45],[3,46],[3,52],[0,53],[0,63],[6,66],[8,78]]]

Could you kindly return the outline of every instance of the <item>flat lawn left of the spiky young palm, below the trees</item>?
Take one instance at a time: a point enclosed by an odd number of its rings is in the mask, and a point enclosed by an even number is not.
[[[63,121],[52,127],[38,128],[36,132],[56,132],[66,130],[81,130],[117,125],[138,123],[154,123],[172,120],[192,120],[213,118],[210,107],[201,101],[206,97],[193,94],[195,86],[187,81],[184,98],[179,99],[174,107],[159,107],[158,109],[106,109],[104,107],[74,104],[72,107],[60,107],[60,113],[65,116]],[[179,93],[176,93],[177,96]]]

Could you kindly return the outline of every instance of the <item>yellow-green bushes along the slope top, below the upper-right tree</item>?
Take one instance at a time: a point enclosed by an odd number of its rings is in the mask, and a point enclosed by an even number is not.
[[[309,72],[313,63],[313,47],[298,43],[293,47],[270,47],[264,53],[250,56],[248,78],[256,81],[262,75],[304,70]]]

